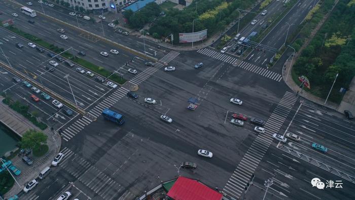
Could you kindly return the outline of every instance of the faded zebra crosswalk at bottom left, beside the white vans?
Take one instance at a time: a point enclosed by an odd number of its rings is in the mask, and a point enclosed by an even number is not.
[[[121,190],[125,189],[123,186],[84,158],[75,154],[72,150],[64,147],[60,152],[64,154],[64,158],[59,165],[65,171],[73,175],[103,199],[119,199]],[[130,195],[132,195],[130,192],[126,191],[124,193],[126,199],[133,199],[133,196]]]

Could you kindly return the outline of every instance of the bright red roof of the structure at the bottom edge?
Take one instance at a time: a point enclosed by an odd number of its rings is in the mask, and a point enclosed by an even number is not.
[[[167,195],[175,200],[221,200],[222,194],[202,183],[179,177]]]

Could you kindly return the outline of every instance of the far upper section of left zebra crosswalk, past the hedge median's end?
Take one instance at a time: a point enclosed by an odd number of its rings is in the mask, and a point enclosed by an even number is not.
[[[160,58],[158,62],[154,63],[154,66],[150,66],[150,67],[146,68],[143,72],[139,73],[137,76],[135,76],[134,78],[129,80],[129,82],[139,85],[140,83],[142,83],[143,81],[145,81],[149,77],[151,77],[154,73],[156,73],[160,68],[165,66],[161,62],[169,63],[171,60],[173,60],[178,55],[180,55],[179,52],[170,51],[168,54],[166,54],[162,58]]]

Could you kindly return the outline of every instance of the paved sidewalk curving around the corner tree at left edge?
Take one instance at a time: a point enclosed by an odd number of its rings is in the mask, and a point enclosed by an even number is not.
[[[21,114],[12,110],[8,105],[3,103],[3,97],[0,97],[0,120],[12,129],[16,134],[22,137],[28,129],[40,130],[37,126],[33,125]],[[53,158],[59,152],[61,139],[57,133],[53,133],[49,128],[43,130],[43,132],[48,136],[47,145],[49,150],[46,155],[40,158],[33,158],[33,164],[28,166],[22,161],[22,157],[16,156],[11,161],[18,169],[21,170],[21,174],[16,176],[17,182],[20,184],[21,188],[15,183],[9,192],[5,194],[5,198],[9,198],[15,194],[18,194],[23,187],[31,180],[38,177],[41,170],[46,166],[50,166]]]

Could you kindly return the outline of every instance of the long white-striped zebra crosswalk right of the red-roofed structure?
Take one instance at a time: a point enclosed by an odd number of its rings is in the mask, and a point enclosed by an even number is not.
[[[291,92],[286,92],[282,96],[280,102],[264,125],[266,129],[265,134],[259,134],[256,137],[223,188],[222,193],[226,197],[239,199],[244,192],[245,186],[251,180],[252,175],[271,145],[273,141],[272,134],[278,132],[281,128],[296,101],[297,97]]]

